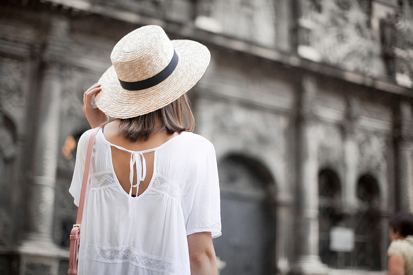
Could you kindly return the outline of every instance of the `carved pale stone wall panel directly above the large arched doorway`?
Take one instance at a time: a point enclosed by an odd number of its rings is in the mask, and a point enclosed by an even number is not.
[[[287,117],[206,99],[197,106],[198,132],[214,144],[218,160],[234,153],[256,159],[268,168],[278,191],[289,191]]]

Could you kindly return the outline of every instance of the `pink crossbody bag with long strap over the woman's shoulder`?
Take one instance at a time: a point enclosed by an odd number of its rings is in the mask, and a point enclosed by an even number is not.
[[[78,257],[78,250],[79,250],[80,227],[82,224],[83,207],[85,204],[86,188],[87,188],[88,178],[89,178],[90,159],[92,156],[93,143],[95,141],[95,137],[99,129],[100,127],[93,130],[92,134],[90,135],[90,139],[88,143],[88,151],[86,153],[86,161],[85,161],[85,171],[83,172],[81,197],[79,200],[78,218],[76,218],[76,224],[73,225],[73,228],[70,231],[70,256],[69,256],[69,270],[68,270],[69,275],[78,274],[78,263],[76,261],[76,258]]]

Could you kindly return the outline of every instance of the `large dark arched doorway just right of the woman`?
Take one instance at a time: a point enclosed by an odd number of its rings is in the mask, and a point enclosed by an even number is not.
[[[221,275],[264,275],[273,269],[275,218],[268,170],[254,159],[230,155],[218,165],[222,236],[215,252],[226,267]]]

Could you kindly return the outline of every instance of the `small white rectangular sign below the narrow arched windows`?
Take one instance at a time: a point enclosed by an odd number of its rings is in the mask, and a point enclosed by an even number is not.
[[[354,249],[354,229],[331,227],[330,250],[335,252],[351,252]]]

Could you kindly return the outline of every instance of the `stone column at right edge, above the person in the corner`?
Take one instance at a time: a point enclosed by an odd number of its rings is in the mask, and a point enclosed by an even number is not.
[[[413,114],[412,106],[400,103],[399,129],[396,131],[399,211],[413,211]]]

